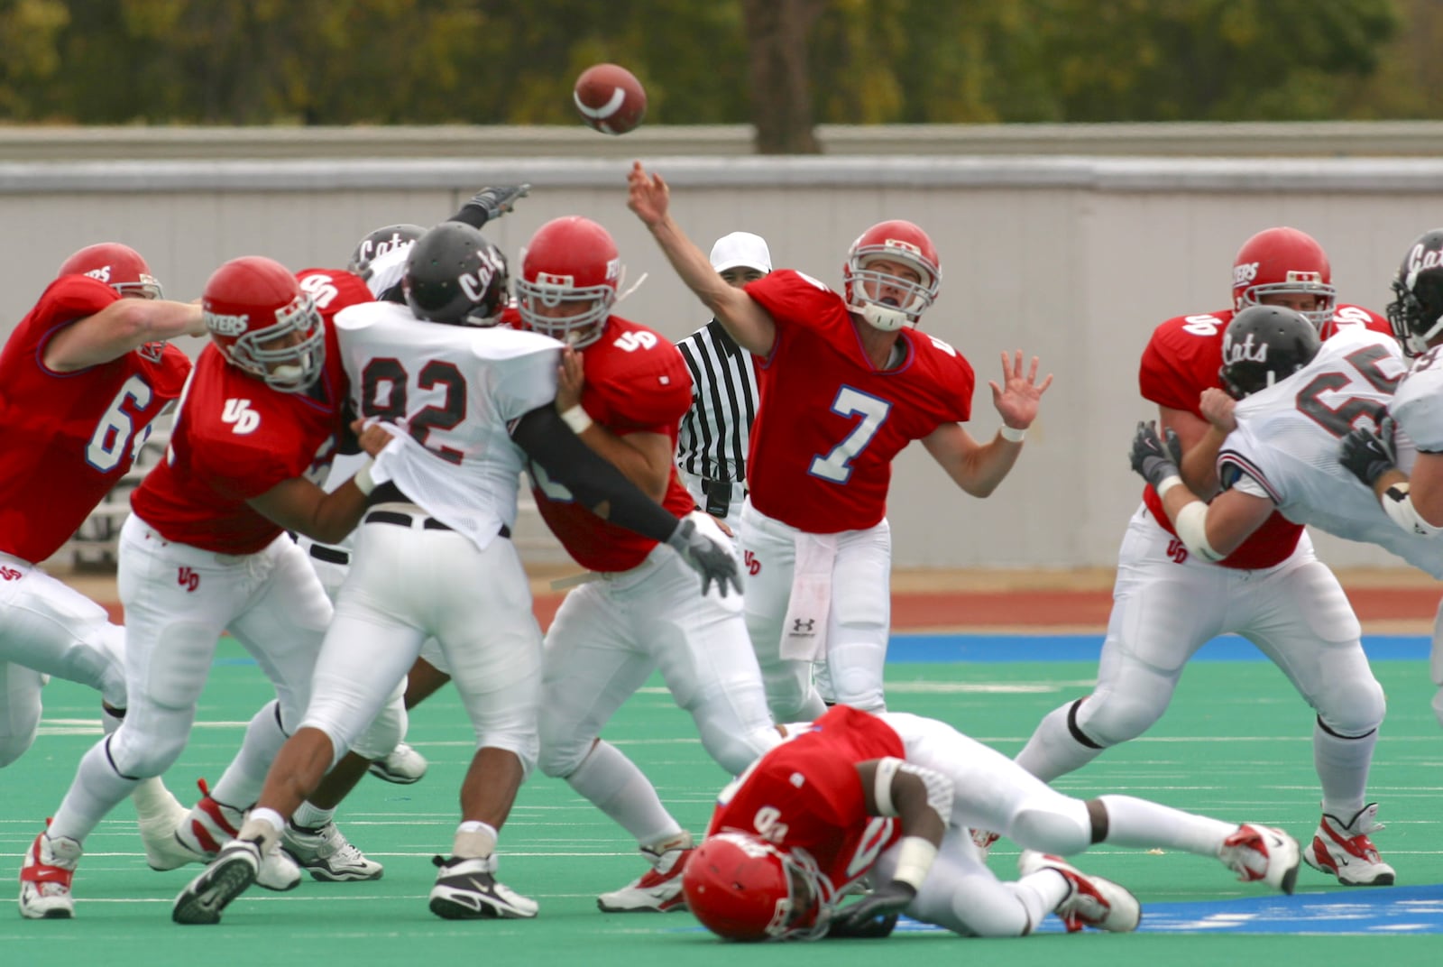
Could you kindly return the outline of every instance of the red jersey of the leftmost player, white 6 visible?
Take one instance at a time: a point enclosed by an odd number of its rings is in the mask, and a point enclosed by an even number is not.
[[[0,354],[0,551],[38,563],[69,540],[185,385],[190,359],[147,345],[74,372],[45,365],[51,339],[120,294],[88,276],[51,283]]]

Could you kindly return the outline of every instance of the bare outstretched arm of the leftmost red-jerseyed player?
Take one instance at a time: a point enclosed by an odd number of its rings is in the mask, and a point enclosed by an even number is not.
[[[198,302],[117,299],[55,333],[45,348],[45,365],[55,372],[74,372],[118,359],[147,342],[203,335]]]

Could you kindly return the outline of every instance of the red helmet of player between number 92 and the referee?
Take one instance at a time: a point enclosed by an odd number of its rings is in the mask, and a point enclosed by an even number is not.
[[[579,215],[548,221],[521,257],[521,322],[577,349],[589,346],[602,338],[623,276],[616,242],[605,228]],[[580,307],[557,313],[573,305]]]

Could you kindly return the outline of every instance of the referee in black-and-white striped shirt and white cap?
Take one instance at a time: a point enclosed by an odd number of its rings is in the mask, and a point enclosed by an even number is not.
[[[711,247],[711,267],[740,289],[772,271],[766,240],[732,232]],[[756,368],[713,319],[677,344],[691,369],[691,408],[681,419],[677,466],[697,507],[726,520],[746,496],[746,445],[756,417]]]

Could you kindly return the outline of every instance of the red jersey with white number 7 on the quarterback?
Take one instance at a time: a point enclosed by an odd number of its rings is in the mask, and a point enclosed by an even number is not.
[[[971,364],[941,339],[902,329],[900,364],[877,369],[843,297],[798,271],[773,271],[746,293],[776,320],[772,354],[756,367],[752,505],[811,534],[874,527],[887,512],[892,458],[971,417]]]

